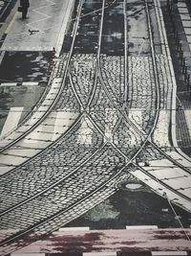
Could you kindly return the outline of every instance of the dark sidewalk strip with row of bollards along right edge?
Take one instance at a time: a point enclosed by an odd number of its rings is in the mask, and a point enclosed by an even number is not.
[[[191,12],[183,0],[173,5],[172,12],[163,2],[162,12],[177,80],[178,145],[191,156]]]

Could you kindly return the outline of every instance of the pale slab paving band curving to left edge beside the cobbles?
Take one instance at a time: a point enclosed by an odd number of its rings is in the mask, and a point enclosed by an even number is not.
[[[66,83],[63,93],[68,96],[68,98],[62,99],[60,97],[54,111],[44,119],[37,128],[34,128],[29,135],[25,135],[25,133],[45,115],[46,111],[52,107],[62,85],[66,59],[66,57],[63,57],[61,60],[57,61],[53,70],[50,89],[42,98],[42,102],[39,103],[39,106],[33,109],[32,116],[28,117],[28,120],[24,122],[24,124],[21,124],[19,128],[13,130],[11,134],[5,136],[5,138],[2,138],[0,141],[3,150],[0,153],[1,175],[27,161],[45,147],[48,147],[62,134],[63,130],[67,129],[73,120],[75,120],[77,115],[76,108],[78,108],[78,106],[74,108],[76,101],[69,101],[69,99],[72,99],[74,96],[71,87],[68,88]],[[64,105],[64,107],[62,107],[62,105]],[[21,141],[19,138],[22,135],[25,135],[25,137]],[[15,139],[18,140],[17,143],[14,143]],[[10,143],[13,143],[13,147],[11,148],[8,147]],[[4,147],[8,147],[8,150],[4,150]]]

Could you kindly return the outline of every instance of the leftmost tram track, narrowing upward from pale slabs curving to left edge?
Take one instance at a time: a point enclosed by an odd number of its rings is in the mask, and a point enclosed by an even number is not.
[[[60,99],[63,97],[63,94],[66,93],[65,87],[66,87],[66,81],[67,81],[67,76],[68,76],[67,74],[68,74],[68,69],[70,67],[71,58],[72,58],[73,52],[74,52],[74,41],[75,41],[75,36],[77,33],[79,19],[80,19],[80,12],[78,12],[78,15],[75,18],[74,30],[73,30],[74,37],[73,37],[71,51],[66,56],[67,58],[64,57],[67,60],[66,60],[65,65],[63,65],[63,69],[61,71],[58,70],[59,73],[60,72],[62,73],[61,75],[63,75],[63,78],[57,79],[55,77],[53,79],[53,81],[52,81],[53,86],[51,88],[51,91],[46,96],[45,102],[39,106],[39,108],[37,109],[37,111],[35,111],[35,113],[32,115],[30,120],[25,120],[22,123],[22,125],[19,126],[19,128],[17,128],[15,130],[15,132],[13,132],[13,134],[11,133],[11,136],[7,137],[5,140],[2,141],[3,149],[0,150],[0,153],[1,153],[0,156],[4,158],[5,154],[6,155],[10,154],[10,159],[5,160],[5,161],[4,161],[4,159],[2,161],[0,160],[0,164],[1,164],[2,168],[5,166],[5,169],[6,170],[8,169],[8,171],[12,170],[16,166],[20,165],[21,163],[23,163],[29,159],[29,157],[21,157],[20,156],[20,155],[25,155],[24,151],[31,151],[31,152],[33,151],[32,154],[30,155],[30,157],[32,157],[33,155],[42,151],[44,148],[51,145],[53,143],[53,141],[60,136],[59,128],[58,128],[58,131],[57,130],[54,131],[53,128],[55,126],[53,127],[53,125],[52,125],[53,122],[51,122],[49,119],[51,118],[52,120],[54,120],[54,123],[56,123],[57,112],[59,112],[59,109],[57,109],[57,105],[60,105],[60,102],[62,101]],[[61,83],[61,85],[60,85],[60,83]],[[58,119],[59,119],[59,116],[58,116]],[[36,132],[39,132],[45,126],[51,126],[53,134],[51,134],[50,136],[47,136],[48,138],[45,138],[43,140],[36,139],[36,144],[38,144],[38,142],[39,143],[41,142],[42,146],[34,147],[34,142],[35,142],[35,137],[36,137],[35,130],[36,130]],[[30,137],[30,135],[32,134],[32,131],[34,131],[34,135],[32,135]],[[29,141],[28,139],[31,140],[32,137],[34,137],[34,141],[32,141],[32,147],[29,147],[31,141]],[[27,145],[25,143],[26,138],[28,140]],[[23,143],[23,145],[21,145],[23,141],[24,141],[24,143]],[[20,151],[20,153],[18,155],[16,155],[15,150]],[[18,160],[18,164],[15,164],[15,165],[12,164],[12,161],[11,161],[12,155],[13,155],[13,158],[14,157],[19,158],[19,156],[20,156],[20,160]],[[10,162],[10,164],[9,164],[9,162]]]

